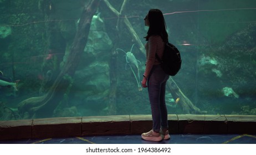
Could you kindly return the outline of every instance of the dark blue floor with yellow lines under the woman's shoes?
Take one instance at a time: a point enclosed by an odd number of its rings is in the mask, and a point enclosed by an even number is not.
[[[149,142],[140,135],[129,136],[86,136],[69,138],[44,138],[0,141],[0,144],[256,144],[256,135],[171,135],[171,139],[161,142]]]

